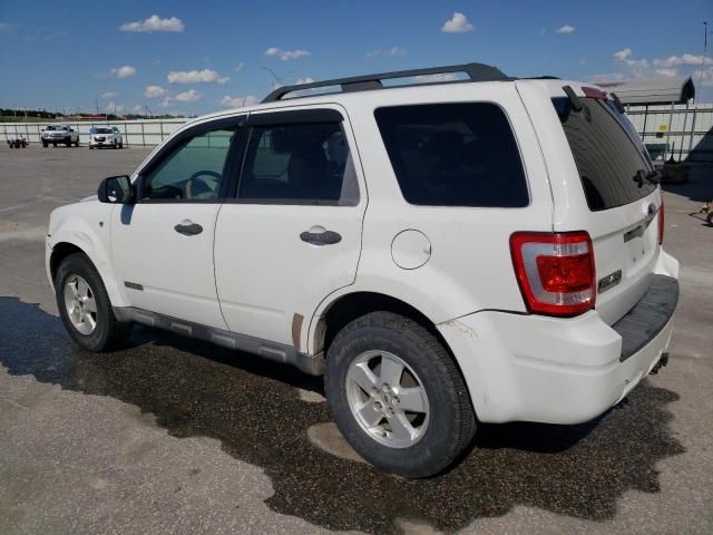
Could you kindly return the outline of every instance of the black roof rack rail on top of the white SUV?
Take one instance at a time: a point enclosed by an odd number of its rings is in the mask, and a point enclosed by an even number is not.
[[[334,78],[332,80],[313,81],[311,84],[300,84],[296,86],[283,86],[267,95],[263,99],[263,103],[274,103],[276,100],[281,100],[285,95],[290,93],[302,91],[305,89],[341,86],[342,93],[367,91],[370,89],[383,89],[382,80],[411,78],[416,76],[446,75],[450,72],[465,72],[470,78],[470,81],[502,81],[515,79],[504,75],[502,71],[497,67],[491,67],[485,64],[449,65],[445,67],[431,67],[428,69],[397,70],[393,72],[381,72],[377,75],[352,76],[350,78]]]

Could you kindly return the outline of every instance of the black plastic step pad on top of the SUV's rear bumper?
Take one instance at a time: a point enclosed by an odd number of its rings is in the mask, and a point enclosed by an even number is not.
[[[622,337],[624,362],[651,342],[671,321],[678,304],[678,281],[654,275],[648,291],[619,321],[612,325]]]

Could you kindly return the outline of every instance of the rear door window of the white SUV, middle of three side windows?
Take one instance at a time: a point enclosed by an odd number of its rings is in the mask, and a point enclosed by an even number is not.
[[[238,197],[263,204],[356,205],[356,175],[341,123],[254,127]]]

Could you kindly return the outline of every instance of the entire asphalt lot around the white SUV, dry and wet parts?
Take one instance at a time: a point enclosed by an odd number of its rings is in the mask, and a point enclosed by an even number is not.
[[[322,381],[135,328],[69,340],[43,268],[49,212],[145,148],[0,148],[0,533],[713,533],[713,166],[668,186],[682,263],[671,359],[580,426],[481,426],[428,480],[353,458]]]

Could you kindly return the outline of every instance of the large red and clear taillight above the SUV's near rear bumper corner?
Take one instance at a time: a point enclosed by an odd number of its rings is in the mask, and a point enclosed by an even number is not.
[[[586,232],[518,232],[510,253],[530,312],[576,315],[594,308],[594,249]]]

